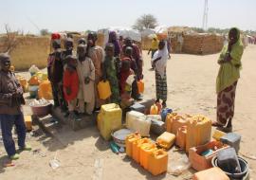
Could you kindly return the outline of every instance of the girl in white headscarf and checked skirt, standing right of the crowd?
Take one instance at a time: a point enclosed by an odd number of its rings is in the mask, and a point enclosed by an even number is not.
[[[155,67],[155,87],[156,87],[156,102],[162,99],[162,106],[166,107],[167,100],[167,81],[166,81],[166,64],[168,60],[168,49],[164,41],[160,41],[158,50],[152,59],[152,64]]]

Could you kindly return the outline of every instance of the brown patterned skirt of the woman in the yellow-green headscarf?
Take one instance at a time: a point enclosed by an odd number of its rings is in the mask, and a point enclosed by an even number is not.
[[[235,90],[237,81],[218,93],[217,97],[217,121],[225,126],[234,116]]]

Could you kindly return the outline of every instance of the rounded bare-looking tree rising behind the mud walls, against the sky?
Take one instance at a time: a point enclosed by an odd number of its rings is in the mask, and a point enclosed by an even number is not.
[[[142,31],[145,28],[155,28],[157,26],[157,20],[152,14],[143,14],[137,18],[136,24],[133,26],[134,29]]]

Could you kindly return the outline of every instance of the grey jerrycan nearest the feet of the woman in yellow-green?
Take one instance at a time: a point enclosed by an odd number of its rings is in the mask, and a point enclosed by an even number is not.
[[[240,141],[241,141],[241,135],[237,135],[234,133],[229,133],[227,135],[223,135],[220,138],[220,141],[229,144],[230,147],[233,147],[235,149],[235,152],[238,153],[240,149]]]

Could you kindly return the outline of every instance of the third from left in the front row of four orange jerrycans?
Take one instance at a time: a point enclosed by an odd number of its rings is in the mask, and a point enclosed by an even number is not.
[[[157,148],[154,143],[146,143],[140,147],[139,163],[144,169],[148,170],[149,156],[151,153],[155,152],[156,150],[157,150]]]

